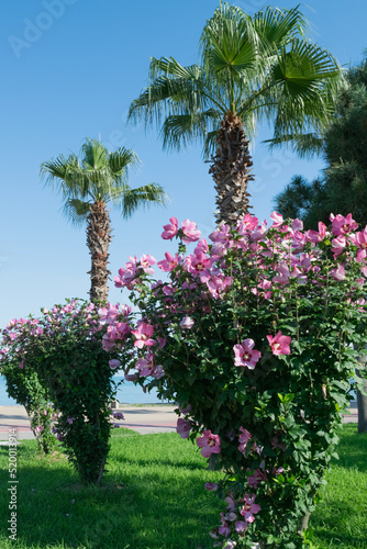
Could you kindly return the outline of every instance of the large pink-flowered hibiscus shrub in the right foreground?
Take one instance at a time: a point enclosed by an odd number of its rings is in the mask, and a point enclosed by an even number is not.
[[[115,285],[137,317],[102,312],[103,348],[120,351],[125,378],[177,402],[179,435],[224,471],[205,488],[225,500],[211,536],[227,549],[302,546],[351,400],[351,344],[365,336],[367,231],[352,215],[319,232],[271,220],[245,215],[208,244],[171,217],[162,236],[178,251],[157,264],[167,280],[152,280],[151,256],[131,257]]]

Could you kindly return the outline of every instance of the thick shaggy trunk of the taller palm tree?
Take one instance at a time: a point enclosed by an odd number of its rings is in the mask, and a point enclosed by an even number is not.
[[[232,112],[221,122],[212,163],[209,173],[213,176],[216,190],[216,221],[234,225],[251,208],[247,186],[254,176],[244,126]]]

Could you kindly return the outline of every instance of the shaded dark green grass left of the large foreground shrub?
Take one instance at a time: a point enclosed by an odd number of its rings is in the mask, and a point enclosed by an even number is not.
[[[142,437],[143,438],[143,437]],[[121,440],[121,446],[123,441]],[[196,456],[193,456],[193,461]],[[30,461],[29,461],[30,460]],[[111,460],[112,461],[112,460]],[[19,452],[19,547],[44,549],[202,549],[219,522],[222,503],[205,492],[207,471],[160,460],[111,462],[99,488],[82,486],[62,455]],[[201,469],[201,470],[200,470]],[[207,475],[207,477],[205,477]],[[205,477],[205,478],[204,478]],[[3,500],[0,503],[3,507]],[[1,549],[8,538],[1,522]],[[18,547],[18,545],[16,545]]]

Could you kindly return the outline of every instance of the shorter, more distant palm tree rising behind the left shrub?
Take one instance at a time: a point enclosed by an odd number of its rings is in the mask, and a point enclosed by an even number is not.
[[[90,300],[103,302],[108,296],[109,245],[111,223],[107,204],[111,202],[130,217],[140,206],[165,204],[168,199],[156,183],[131,189],[127,169],[138,163],[136,154],[124,147],[110,153],[100,142],[87,139],[81,158],[63,155],[41,165],[46,183],[62,191],[64,213],[74,224],[87,222],[87,246],[91,255]]]

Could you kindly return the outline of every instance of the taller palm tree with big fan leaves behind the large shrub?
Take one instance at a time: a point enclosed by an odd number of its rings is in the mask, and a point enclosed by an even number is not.
[[[205,157],[215,149],[210,172],[219,222],[232,224],[249,208],[248,139],[259,122],[274,123],[274,143],[318,141],[330,122],[341,69],[305,30],[298,7],[251,18],[221,3],[203,29],[199,65],[151,60],[149,85],[129,119],[160,126],[164,148],[199,141]]]

